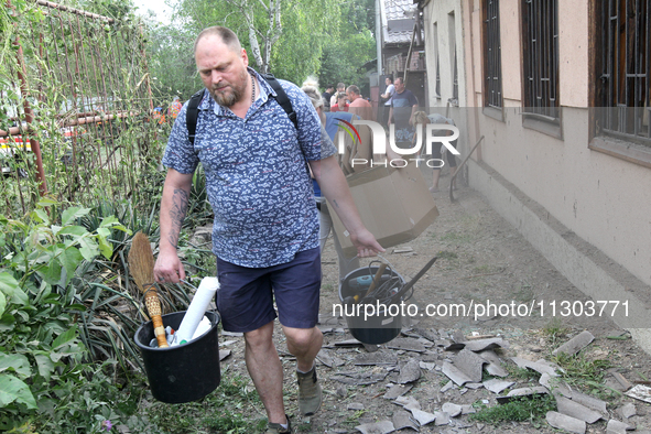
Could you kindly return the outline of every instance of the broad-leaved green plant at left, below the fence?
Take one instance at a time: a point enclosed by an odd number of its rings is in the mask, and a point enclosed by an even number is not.
[[[98,256],[111,257],[112,246],[107,240],[111,229],[127,229],[108,217],[89,232],[75,225],[88,208],[56,210],[57,205],[42,200],[25,221],[0,217],[2,430],[33,419],[37,425],[53,420],[58,425],[72,423],[64,432],[76,432],[77,423],[84,432],[96,432],[99,424],[95,417],[111,415],[111,405],[104,401],[93,404],[97,398],[90,398],[88,391],[112,361],[99,367],[86,365],[93,337],[80,335],[75,321],[87,311],[79,303],[84,300],[75,283],[82,279],[79,270],[87,271],[87,264]],[[61,220],[53,221],[52,215],[59,215]],[[107,381],[117,388],[115,381]],[[110,391],[104,386],[94,390],[98,389]]]

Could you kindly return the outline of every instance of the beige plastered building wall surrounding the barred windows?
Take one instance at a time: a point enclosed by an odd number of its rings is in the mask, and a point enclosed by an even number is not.
[[[466,39],[466,70],[471,75],[469,84],[474,93],[465,101],[468,107],[481,107],[480,1],[462,2],[468,9],[459,28]],[[446,13],[452,7],[448,1],[432,3],[435,4],[428,7],[432,10],[425,15],[428,30],[432,22],[427,20]],[[562,139],[522,124],[519,110],[522,107],[520,1],[502,0],[500,3],[504,119],[486,116],[480,108],[468,110],[476,113],[468,117],[471,121],[469,141],[485,135],[479,156],[485,163],[571,231],[645,284],[651,284],[651,189],[648,188],[651,169],[588,149],[589,0],[558,2]],[[445,47],[441,37],[438,42]],[[432,52],[430,46],[426,50]],[[432,72],[430,59],[427,66]]]

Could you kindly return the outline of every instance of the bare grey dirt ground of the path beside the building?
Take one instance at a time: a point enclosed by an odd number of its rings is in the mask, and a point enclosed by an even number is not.
[[[427,176],[428,180],[428,176]],[[447,185],[449,177],[442,177],[441,186]],[[295,362],[286,354],[286,346],[282,333],[276,327],[276,347],[281,352],[285,369],[285,404],[297,432],[306,433],[384,433],[388,431],[366,431],[356,426],[381,421],[392,421],[395,416],[409,416],[401,405],[384,399],[390,384],[400,381],[400,370],[410,360],[420,364],[420,378],[409,382],[413,386],[403,398],[412,397],[417,401],[422,411],[436,414],[443,404],[471,405],[484,402],[487,406],[497,405],[497,394],[479,387],[454,386],[448,389],[449,379],[442,372],[446,361],[453,361],[458,350],[446,350],[446,345],[458,339],[460,334],[473,337],[501,337],[508,348],[496,350],[502,367],[514,366],[510,357],[517,356],[535,361],[552,359],[551,351],[560,344],[569,340],[583,330],[594,335],[595,340],[583,352],[586,361],[607,359],[611,368],[606,372],[604,381],[610,389],[619,392],[607,398],[608,414],[600,421],[588,424],[588,433],[606,432],[606,424],[610,419],[625,421],[637,427],[637,432],[651,430],[651,404],[634,400],[620,392],[625,390],[612,376],[620,373],[632,384],[644,382],[651,378],[649,356],[642,351],[628,335],[619,329],[615,323],[603,317],[587,317],[567,313],[562,308],[562,302],[587,302],[588,299],[561,275],[536,250],[534,250],[520,234],[493,211],[479,194],[469,187],[459,187],[456,192],[459,198],[451,203],[447,192],[434,193],[440,216],[436,221],[419,238],[408,243],[387,249],[383,258],[391,267],[409,281],[434,256],[437,262],[416,283],[413,296],[408,303],[419,306],[419,314],[413,318],[403,318],[402,336],[393,341],[380,345],[378,352],[388,359],[383,365],[356,365],[360,358],[371,355],[361,345],[338,346],[351,339],[344,318],[333,317],[333,304],[339,303],[337,258],[332,239],[328,240],[324,257],[322,286],[321,328],[324,330],[324,350],[318,358],[318,376],[324,388],[324,402],[317,415],[310,420],[299,416],[295,387]],[[402,253],[394,250],[405,251]],[[362,262],[362,267],[368,264]],[[447,317],[428,316],[424,314],[428,304],[452,303],[493,303],[516,306],[535,306],[531,315],[495,315],[489,314],[477,319],[470,316],[448,315]],[[556,305],[556,316],[551,310]],[[541,304],[542,303],[542,304]],[[543,312],[541,313],[540,306]],[[585,306],[585,303],[575,304]],[[524,308],[524,307],[522,307]],[[413,312],[413,311],[412,311]],[[523,311],[521,311],[523,312]],[[578,312],[578,311],[575,311]],[[502,313],[504,313],[502,311]],[[553,338],[554,330],[565,329],[566,335]],[[619,338],[612,338],[619,337]],[[243,365],[243,345],[241,337],[221,337],[232,340],[224,348],[232,351],[223,361],[225,372],[247,376]],[[413,346],[406,344],[417,343]],[[400,343],[403,348],[391,348]],[[371,350],[373,348],[370,348]],[[329,365],[329,366],[328,366]],[[516,381],[511,389],[525,386],[539,386],[530,379],[516,378],[509,369],[510,376],[504,378]],[[228,375],[230,375],[228,373]],[[417,376],[417,373],[416,373]],[[484,378],[486,380],[486,378]],[[369,383],[370,382],[370,383]],[[367,383],[367,384],[365,384]],[[648,383],[648,382],[647,382]],[[443,388],[443,391],[442,391]],[[447,389],[447,390],[446,390]],[[595,394],[599,388],[583,390]],[[504,392],[502,392],[503,394]],[[625,417],[620,409],[626,403],[632,403],[636,415]],[[468,408],[465,408],[466,410]],[[261,411],[261,409],[258,409]],[[542,424],[529,422],[503,422],[498,425],[469,421],[468,414],[449,419],[449,423],[436,426],[438,421],[421,426],[421,433],[552,433],[558,432],[544,421]],[[395,432],[416,432],[405,427]]]

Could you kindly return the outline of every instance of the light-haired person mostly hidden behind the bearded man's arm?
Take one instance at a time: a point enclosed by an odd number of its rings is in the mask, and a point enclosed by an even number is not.
[[[337,131],[339,129],[339,119],[343,119],[347,122],[352,122],[352,119],[358,119],[358,117],[349,112],[325,112],[323,110],[323,99],[318,98],[317,88],[318,86],[316,79],[308,77],[303,83],[302,90],[305,93],[305,95],[307,95],[307,97],[310,97],[310,100],[316,109],[321,123],[325,128],[329,139],[335,141],[335,137],[337,135]],[[328,204],[325,197],[323,197],[318,184],[314,180],[312,180],[312,182],[314,187],[314,198],[316,199],[316,207],[318,208],[319,247],[323,254],[323,249],[328,239],[330,230],[334,231],[333,218],[330,217]],[[336,236],[333,237],[333,241],[339,261],[339,282],[341,282],[349,272],[359,268],[359,258],[355,257],[352,259],[346,259],[341,250],[341,245],[339,243],[339,240]]]

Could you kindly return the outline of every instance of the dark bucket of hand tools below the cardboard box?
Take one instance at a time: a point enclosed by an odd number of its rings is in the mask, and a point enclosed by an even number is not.
[[[364,297],[366,290],[356,290],[349,285],[349,282],[352,279],[367,276],[369,275],[369,272],[372,276],[376,274],[378,269],[379,267],[373,265],[370,267],[370,271],[369,267],[352,270],[346,274],[346,278],[344,278],[339,285],[339,300],[341,301],[341,308],[344,311],[344,317],[346,318],[348,329],[350,330],[350,334],[354,338],[360,343],[369,345],[386,344],[398,336],[402,329],[402,316],[400,313],[398,315],[391,315],[390,313],[395,314],[397,308],[389,308],[389,306],[387,306],[387,310],[376,308],[373,315],[366,316],[364,305],[354,304],[345,306],[343,302],[348,296],[360,295]],[[393,275],[398,276],[404,284],[404,279],[402,275],[395,272],[393,272]],[[359,315],[357,315],[357,306],[359,306]],[[399,305],[397,306],[399,307]]]

